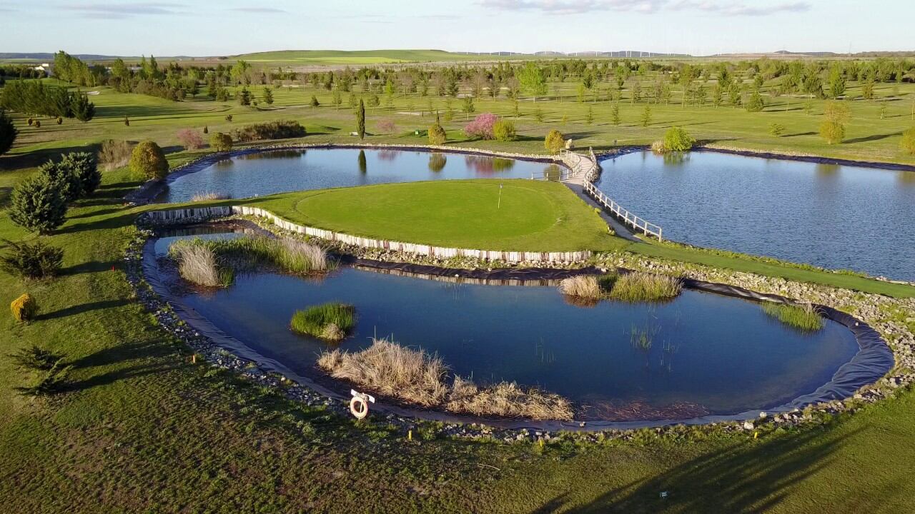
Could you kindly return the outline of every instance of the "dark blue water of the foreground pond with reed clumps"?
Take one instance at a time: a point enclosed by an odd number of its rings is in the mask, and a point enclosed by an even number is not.
[[[156,241],[156,252],[171,241]],[[663,305],[577,306],[553,286],[452,284],[345,267],[320,280],[242,275],[228,289],[180,299],[302,375],[315,373],[329,347],[291,333],[289,319],[328,301],[356,306],[358,325],[342,348],[393,337],[437,352],[479,383],[539,385],[585,416],[618,421],[774,407],[828,382],[857,351],[851,332],[832,321],[803,334],[756,303],[690,290]],[[641,333],[649,348],[634,342]]]

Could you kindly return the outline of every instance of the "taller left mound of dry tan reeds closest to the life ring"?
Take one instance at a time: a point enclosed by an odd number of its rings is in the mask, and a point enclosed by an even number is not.
[[[447,395],[442,359],[387,339],[373,339],[371,347],[358,352],[324,352],[318,366],[331,377],[426,407],[439,405]]]

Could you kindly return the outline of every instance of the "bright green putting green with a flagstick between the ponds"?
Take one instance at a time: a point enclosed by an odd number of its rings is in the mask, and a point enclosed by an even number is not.
[[[562,184],[439,180],[285,193],[253,201],[301,225],[478,250],[612,251],[628,244]]]

